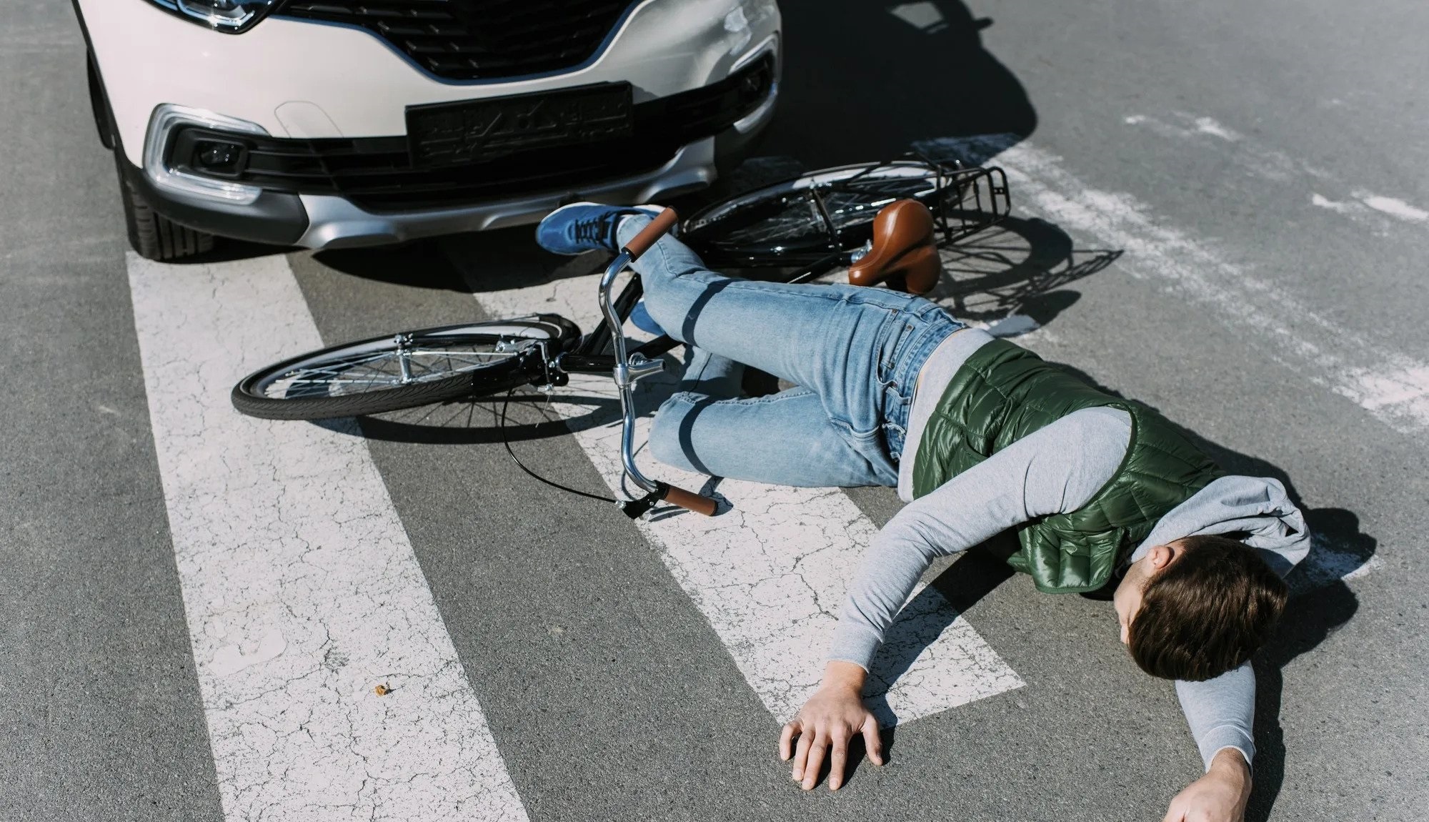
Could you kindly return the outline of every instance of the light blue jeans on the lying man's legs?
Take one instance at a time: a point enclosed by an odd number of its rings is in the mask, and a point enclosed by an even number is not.
[[[647,222],[623,220],[620,242]],[[887,289],[726,277],[670,236],[634,269],[650,317],[686,343],[650,430],[654,459],[775,485],[897,485],[915,380],[962,323]],[[745,365],[797,387],[740,397]]]

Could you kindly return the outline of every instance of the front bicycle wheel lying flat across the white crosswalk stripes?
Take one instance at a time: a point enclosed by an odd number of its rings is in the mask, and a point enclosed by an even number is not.
[[[230,399],[240,413],[262,419],[400,410],[530,383],[544,376],[542,343],[554,357],[579,339],[580,329],[557,315],[419,329],[273,363],[239,380]]]

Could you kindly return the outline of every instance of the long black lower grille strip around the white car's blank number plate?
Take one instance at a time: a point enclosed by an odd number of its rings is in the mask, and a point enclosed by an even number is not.
[[[167,156],[173,167],[204,174],[190,160],[194,143],[220,137],[246,150],[242,173],[226,180],[273,192],[339,194],[374,213],[450,207],[536,192],[574,192],[657,169],[680,146],[717,134],[757,109],[773,80],[775,60],[766,56],[719,83],[636,104],[632,136],[517,150],[457,166],[414,166],[406,137],[300,140],[200,127],[176,132]]]

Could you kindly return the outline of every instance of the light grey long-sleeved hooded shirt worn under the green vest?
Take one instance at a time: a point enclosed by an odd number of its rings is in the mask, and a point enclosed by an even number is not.
[[[992,337],[967,329],[947,339],[925,365],[907,429],[899,496],[912,497],[909,467],[922,430],[947,382],[972,352]],[[933,559],[962,552],[1037,516],[1076,510],[1116,472],[1130,445],[1130,416],[1119,409],[1083,409],[1067,415],[952,477],[900,510],[869,546],[855,575],[835,630],[830,659],[869,668],[887,626],[907,602]],[[1189,510],[1183,510],[1189,509]],[[1222,510],[1223,509],[1223,510]],[[1232,515],[1240,519],[1232,519]],[[1243,526],[1248,518],[1275,519],[1276,539],[1266,548],[1283,559],[1282,573],[1303,556],[1303,519],[1283,499],[1275,480],[1226,477],[1163,518],[1185,523],[1185,533],[1153,533],[1160,542],[1190,533],[1220,532],[1220,518]],[[1296,530],[1299,529],[1299,530]],[[1165,529],[1157,529],[1165,530]],[[1139,559],[1152,545],[1139,546]],[[1255,675],[1249,665],[1206,682],[1177,682],[1176,693],[1206,768],[1218,751],[1235,748],[1246,762],[1255,755]]]

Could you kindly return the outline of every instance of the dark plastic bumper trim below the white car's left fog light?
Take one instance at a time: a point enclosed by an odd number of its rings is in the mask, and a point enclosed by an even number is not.
[[[270,246],[292,246],[307,232],[307,210],[297,194],[263,192],[252,203],[199,199],[160,189],[127,159],[120,166],[144,202],[180,226]]]

